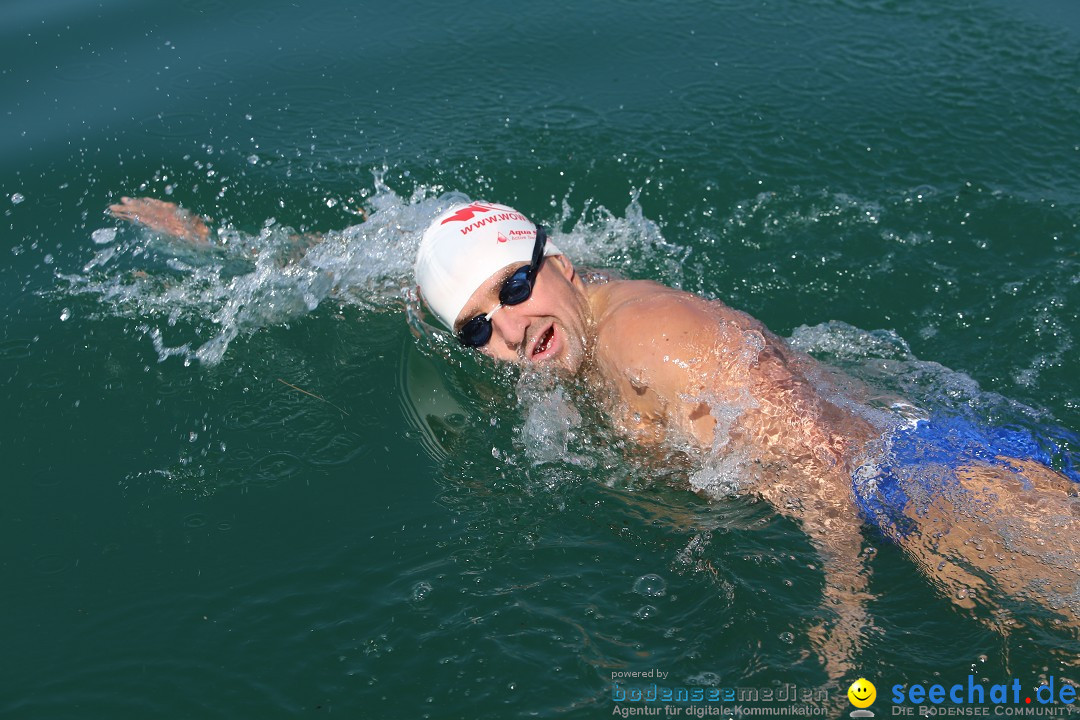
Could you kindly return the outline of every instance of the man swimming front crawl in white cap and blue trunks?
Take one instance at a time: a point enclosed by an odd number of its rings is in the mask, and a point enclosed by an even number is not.
[[[173,221],[158,216],[167,208],[141,202],[110,212],[167,232]],[[187,217],[185,236],[200,236]],[[838,619],[812,639],[832,678],[853,671],[872,630],[862,518],[961,606],[1010,594],[1049,608],[1074,634],[1080,626],[1078,486],[1047,466],[1031,438],[936,418],[882,429],[820,392],[811,379],[821,366],[746,313],[579,272],[542,227],[504,205],[444,212],[423,233],[415,271],[424,303],[462,345],[584,379],[640,444],[748,458],[747,488],[797,519],[821,554],[825,604]]]

